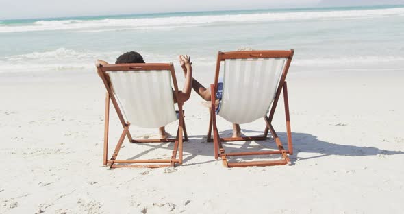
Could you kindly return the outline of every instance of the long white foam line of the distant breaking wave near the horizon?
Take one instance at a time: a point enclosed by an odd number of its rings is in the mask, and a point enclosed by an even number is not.
[[[218,23],[260,23],[268,21],[302,21],[332,19],[370,19],[377,17],[404,16],[404,8],[375,10],[332,10],[297,12],[262,12],[257,14],[223,14],[200,16],[171,16],[137,19],[60,20],[36,21],[25,25],[0,25],[0,33],[36,32],[49,30],[95,30],[167,29],[195,27]]]

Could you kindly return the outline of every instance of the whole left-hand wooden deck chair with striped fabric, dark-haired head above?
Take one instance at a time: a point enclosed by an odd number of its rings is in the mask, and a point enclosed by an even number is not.
[[[184,101],[179,100],[173,64],[97,64],[97,73],[107,89],[105,97],[105,131],[103,165],[117,167],[168,167],[182,164],[182,142],[188,141],[184,123]],[[171,88],[174,85],[174,93]],[[173,95],[174,94],[174,95]],[[173,96],[178,104],[175,111]],[[110,101],[123,126],[112,157],[108,160],[108,126]],[[170,139],[132,139],[131,124],[142,128],[159,128],[179,119],[177,136]],[[184,139],[182,138],[184,133]],[[118,152],[127,136],[131,143],[175,142],[170,159],[118,160]],[[177,151],[179,150],[179,158]]]

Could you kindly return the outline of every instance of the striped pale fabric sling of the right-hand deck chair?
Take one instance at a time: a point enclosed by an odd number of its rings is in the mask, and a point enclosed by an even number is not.
[[[229,59],[224,62],[218,115],[231,123],[265,117],[275,98],[287,58]]]

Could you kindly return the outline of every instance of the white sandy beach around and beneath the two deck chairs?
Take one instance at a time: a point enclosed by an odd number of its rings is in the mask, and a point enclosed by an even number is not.
[[[194,76],[208,84],[212,72],[196,71]],[[184,145],[184,165],[110,170],[101,162],[105,88],[95,72],[0,79],[0,213],[402,213],[404,209],[400,72],[290,73],[293,165],[233,169],[214,160],[212,143],[205,140],[207,110],[195,93],[185,106],[190,141]],[[179,79],[181,87],[184,78]],[[283,106],[279,107],[273,125],[285,141]],[[111,115],[112,148],[122,128],[115,112]],[[174,134],[175,126],[168,126],[168,131]],[[223,119],[218,119],[218,128],[231,134],[231,124]],[[264,122],[244,125],[242,130],[261,133]],[[156,130],[131,128],[131,132],[145,136]],[[239,145],[247,149],[250,144]],[[273,141],[251,143],[249,148],[264,145],[273,147]],[[138,157],[147,151],[142,158],[164,158],[170,156],[171,147],[125,140],[119,156]]]

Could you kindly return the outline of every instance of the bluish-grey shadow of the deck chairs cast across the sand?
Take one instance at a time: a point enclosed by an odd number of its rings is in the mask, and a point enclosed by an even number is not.
[[[224,130],[220,132],[220,136],[231,136],[231,132],[233,130]],[[257,132],[252,130],[242,129],[242,133],[246,135],[262,135],[263,132]],[[254,134],[249,134],[254,133]],[[287,149],[287,139],[286,132],[277,132],[279,138],[283,143],[283,147]],[[214,148],[212,142],[207,142],[207,135],[191,135],[188,136],[188,142],[184,142],[184,152],[188,154],[184,154],[184,163],[183,165],[197,165],[202,163],[209,163],[216,161],[214,159]],[[252,145],[251,141],[239,141],[239,142],[225,142],[223,143],[223,147],[228,152],[248,152],[248,151],[257,151],[263,149],[276,150],[277,147],[275,142],[273,141],[270,134],[268,134],[268,139],[265,141],[254,141],[255,143]],[[336,156],[375,156],[375,155],[394,155],[394,154],[404,154],[403,151],[390,151],[383,150],[377,147],[362,147],[356,145],[340,145],[336,143],[330,143],[326,141],[320,141],[317,139],[317,136],[307,133],[299,133],[292,132],[292,142],[293,142],[293,151],[294,153],[290,156],[290,160],[292,161],[292,165],[297,161],[308,160],[312,158],[322,158],[324,156],[336,155]],[[142,143],[143,144],[143,143]],[[136,159],[144,154],[147,154],[153,150],[160,149],[166,147],[168,143],[144,143],[151,147],[149,150],[146,150],[136,156],[129,158]],[[168,144],[168,149],[173,147],[173,143]],[[171,152],[168,152],[171,154]],[[301,157],[299,153],[312,153],[314,156],[310,157]],[[189,160],[197,156],[212,156],[212,160],[207,160],[204,162],[198,163],[189,163]],[[299,156],[299,157],[298,157]],[[252,160],[252,159],[261,159],[261,158],[276,158],[278,156],[240,156],[237,160]],[[219,158],[220,160],[220,158]],[[234,160],[233,160],[234,161]]]

